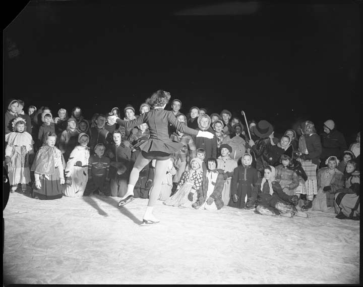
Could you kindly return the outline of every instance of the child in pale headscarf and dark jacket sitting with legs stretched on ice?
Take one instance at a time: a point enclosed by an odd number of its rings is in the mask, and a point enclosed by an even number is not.
[[[275,167],[266,166],[264,177],[256,183],[246,206],[248,208],[254,207],[256,202],[255,212],[259,214],[308,217],[308,214],[296,210],[294,204],[298,197],[284,193],[280,184],[275,181],[275,174]]]

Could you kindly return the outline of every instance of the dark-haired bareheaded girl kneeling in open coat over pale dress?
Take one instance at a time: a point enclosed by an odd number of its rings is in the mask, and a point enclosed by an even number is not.
[[[198,190],[197,201],[192,206],[196,209],[218,210],[223,207],[224,179],[217,170],[217,159],[210,157],[207,164],[208,170],[203,173],[203,182]]]

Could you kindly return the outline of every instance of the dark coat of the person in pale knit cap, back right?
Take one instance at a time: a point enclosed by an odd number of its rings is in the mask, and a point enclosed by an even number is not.
[[[329,156],[336,156],[342,158],[344,150],[347,149],[345,138],[341,132],[331,130],[329,134],[321,134],[322,153],[321,158],[326,159]]]

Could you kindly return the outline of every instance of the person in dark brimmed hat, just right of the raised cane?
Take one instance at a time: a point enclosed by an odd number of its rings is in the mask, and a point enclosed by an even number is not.
[[[249,145],[256,157],[258,176],[259,178],[263,178],[264,169],[269,165],[268,151],[271,147],[271,140],[274,134],[273,127],[269,122],[262,120],[254,127],[254,134],[259,139],[256,142],[251,139]]]

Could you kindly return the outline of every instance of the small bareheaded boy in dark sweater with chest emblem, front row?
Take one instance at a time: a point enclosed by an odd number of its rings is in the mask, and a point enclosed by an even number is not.
[[[83,195],[91,195],[93,192],[98,192],[100,196],[109,195],[108,170],[110,159],[104,156],[105,150],[104,144],[96,144],[95,154],[89,157],[88,182]]]

